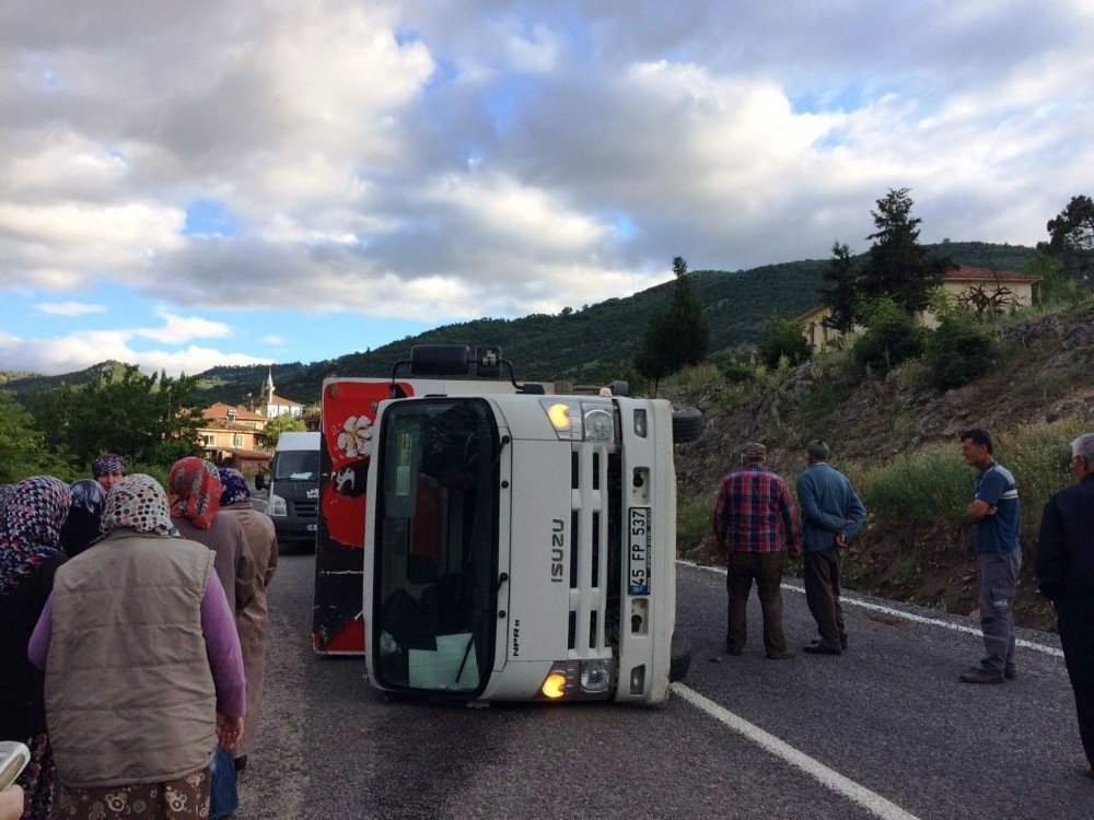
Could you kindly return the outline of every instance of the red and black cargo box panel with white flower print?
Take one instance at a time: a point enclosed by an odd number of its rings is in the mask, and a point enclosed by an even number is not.
[[[403,396],[414,386],[397,384]],[[364,654],[364,512],[376,406],[387,380],[328,380],[323,386],[319,516],[315,542],[312,646],[317,653]]]

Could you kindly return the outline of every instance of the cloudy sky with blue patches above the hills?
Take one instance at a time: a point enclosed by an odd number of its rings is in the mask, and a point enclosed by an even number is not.
[[[313,361],[691,269],[1033,244],[1094,3],[0,4],[0,370]],[[468,340],[475,342],[479,340]]]

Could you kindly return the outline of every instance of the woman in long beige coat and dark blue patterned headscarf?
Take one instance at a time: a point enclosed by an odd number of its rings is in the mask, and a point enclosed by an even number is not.
[[[255,562],[255,597],[236,616],[235,625],[243,645],[243,668],[247,673],[247,719],[244,740],[235,750],[235,769],[242,772],[247,765],[247,754],[255,748],[258,724],[263,713],[263,684],[266,673],[266,626],[269,608],[266,589],[277,570],[277,531],[265,513],[251,506],[251,488],[238,470],[221,467],[221,515],[235,518],[243,528],[243,536]]]

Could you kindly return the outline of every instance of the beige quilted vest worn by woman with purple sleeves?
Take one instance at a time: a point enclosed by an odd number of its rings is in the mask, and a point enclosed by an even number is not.
[[[217,746],[201,633],[213,554],[118,530],[58,569],[46,663],[60,780],[90,788],[200,771]]]

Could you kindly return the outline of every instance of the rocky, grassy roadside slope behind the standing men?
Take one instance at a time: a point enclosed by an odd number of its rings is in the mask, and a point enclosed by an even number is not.
[[[957,436],[982,426],[996,457],[1015,476],[1022,503],[1022,572],[1016,613],[1052,628],[1032,566],[1040,512],[1072,481],[1067,445],[1094,432],[1094,301],[1045,313],[1031,309],[994,328],[999,353],[988,375],[958,389],[927,386],[910,362],[882,375],[859,372],[843,353],[730,385],[711,366],[680,374],[671,389],[705,411],[702,438],[682,447],[682,552],[713,560],[709,537],[719,480],[740,462],[740,445],[768,446],[788,479],[802,469],[805,444],[824,438],[833,465],[851,478],[868,525],[847,552],[847,586],[968,613],[976,608],[971,535],[964,524],[975,471]]]

